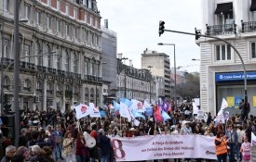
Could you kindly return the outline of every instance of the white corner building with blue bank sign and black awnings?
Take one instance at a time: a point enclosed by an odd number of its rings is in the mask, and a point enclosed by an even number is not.
[[[250,113],[256,113],[256,1],[202,0],[202,33],[235,46],[245,63]],[[201,48],[200,94],[204,111],[218,113],[222,98],[230,114],[240,113],[244,69],[236,51],[221,40],[199,38]]]

